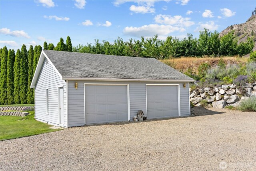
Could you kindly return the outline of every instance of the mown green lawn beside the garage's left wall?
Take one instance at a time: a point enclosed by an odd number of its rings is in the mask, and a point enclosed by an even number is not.
[[[26,119],[22,120],[23,118]],[[0,116],[0,141],[62,130],[50,127],[52,125],[36,121],[31,115]]]

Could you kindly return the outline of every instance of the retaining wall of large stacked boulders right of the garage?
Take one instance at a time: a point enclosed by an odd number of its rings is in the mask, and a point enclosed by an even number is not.
[[[250,96],[256,96],[256,82],[254,84],[246,83],[240,87],[235,84],[223,84],[190,89],[190,101],[194,105],[200,106],[200,102],[205,99],[209,106],[219,109],[226,105],[238,107],[240,101],[248,99]]]

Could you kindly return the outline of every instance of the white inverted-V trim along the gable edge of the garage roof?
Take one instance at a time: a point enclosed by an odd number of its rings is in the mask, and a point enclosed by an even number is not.
[[[58,72],[58,70],[56,69],[56,67],[54,66],[54,64],[52,64],[52,61],[48,58],[48,56],[44,53],[44,50],[42,50],[41,54],[40,54],[40,58],[38,60],[38,64],[36,66],[36,70],[30,85],[30,88],[35,88],[36,86],[36,82],[38,79],[38,76],[41,72],[42,69],[42,65],[44,64],[44,58],[46,58],[48,60],[48,62],[51,64],[51,66],[54,68],[54,70],[57,72],[57,74],[60,76],[60,80],[62,80],[62,76],[60,74],[60,72]]]

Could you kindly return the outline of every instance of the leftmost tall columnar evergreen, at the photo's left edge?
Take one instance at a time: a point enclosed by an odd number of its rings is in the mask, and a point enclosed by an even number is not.
[[[1,72],[0,72],[0,103],[7,103],[7,58],[8,50],[4,46],[1,53]]]

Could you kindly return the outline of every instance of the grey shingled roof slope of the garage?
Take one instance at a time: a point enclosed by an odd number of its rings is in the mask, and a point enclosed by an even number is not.
[[[194,80],[154,58],[43,50],[62,78]]]

